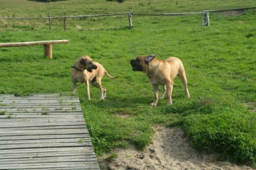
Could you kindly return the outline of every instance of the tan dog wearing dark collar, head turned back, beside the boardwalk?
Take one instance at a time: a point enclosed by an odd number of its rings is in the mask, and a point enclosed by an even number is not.
[[[85,83],[88,99],[91,99],[89,91],[89,82],[101,90],[101,100],[105,99],[106,88],[101,85],[101,79],[107,75],[110,79],[117,79],[118,76],[112,77],[107,73],[104,67],[94,62],[89,56],[81,56],[74,66],[72,66],[72,83],[73,92],[76,91],[76,83]]]

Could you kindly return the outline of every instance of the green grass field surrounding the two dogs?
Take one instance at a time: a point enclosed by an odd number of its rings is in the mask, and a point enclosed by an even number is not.
[[[107,1],[72,0],[39,3],[0,0],[0,17],[52,17],[68,15],[163,14],[202,12],[256,6],[255,1]],[[72,91],[70,72],[76,59],[89,55],[110,75],[99,90],[78,85],[85,120],[97,155],[114,147],[136,145],[144,149],[154,134],[152,126],[181,126],[199,150],[219,152],[223,159],[255,165],[256,161],[256,10],[242,13],[210,13],[209,27],[200,15],[133,16],[128,29],[126,15],[53,20],[0,19],[0,42],[68,39],[53,45],[53,58],[43,56],[43,47],[0,48],[0,93],[62,93]],[[142,54],[157,58],[177,56],[183,61],[191,99],[175,79],[173,105],[161,99],[150,107],[153,92],[146,75],[131,71],[130,59]]]

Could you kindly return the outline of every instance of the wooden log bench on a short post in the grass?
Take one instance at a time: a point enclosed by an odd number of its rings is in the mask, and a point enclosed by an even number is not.
[[[64,44],[64,43],[68,43],[68,40],[0,43],[0,47],[44,45],[44,55],[48,56],[49,59],[52,59],[52,44]]]

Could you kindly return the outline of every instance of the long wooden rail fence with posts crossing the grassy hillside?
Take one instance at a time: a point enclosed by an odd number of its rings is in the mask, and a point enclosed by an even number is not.
[[[62,17],[31,17],[31,18],[22,18],[22,17],[0,17],[0,19],[9,19],[9,20],[49,20],[49,29],[51,30],[52,19],[63,19],[64,31],[67,26],[67,18],[88,18],[88,17],[105,17],[113,15],[128,15],[129,28],[133,28],[132,16],[141,15],[141,16],[175,16],[175,15],[202,15],[202,26],[210,26],[209,12],[225,12],[230,10],[248,10],[256,9],[256,7],[242,7],[236,9],[223,9],[223,10],[204,10],[203,12],[183,12],[183,13],[164,13],[164,14],[134,14],[132,12],[122,12],[117,14],[100,14],[100,15],[76,15],[76,16],[62,16]]]

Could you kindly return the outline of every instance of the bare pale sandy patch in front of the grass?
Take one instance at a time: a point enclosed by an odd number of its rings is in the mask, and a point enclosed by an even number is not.
[[[228,170],[249,170],[249,166],[239,166],[227,161],[215,161],[217,155],[207,155],[196,152],[188,144],[184,132],[180,128],[155,128],[155,136],[152,143],[144,151],[133,148],[117,149],[117,158],[112,161],[105,161],[112,153],[99,158],[101,169],[117,170],[161,170],[161,169],[228,169]]]

